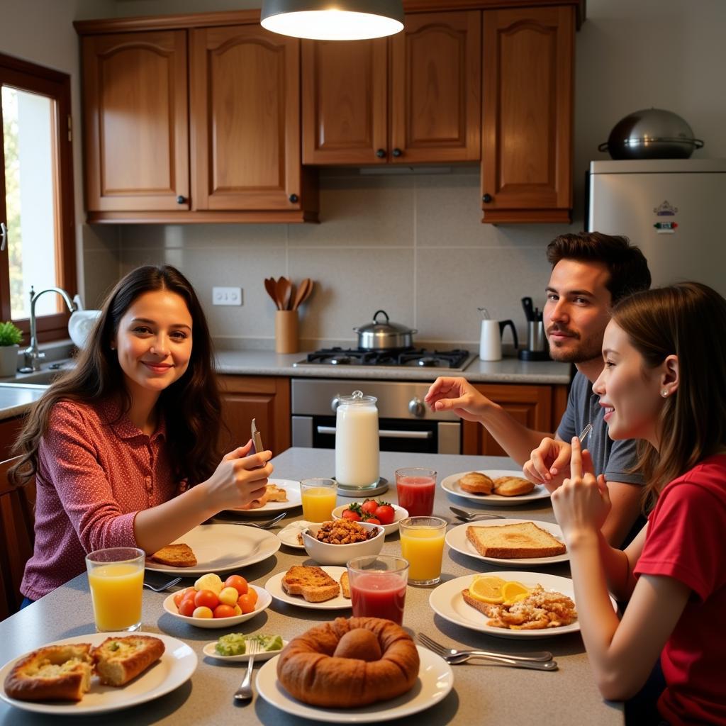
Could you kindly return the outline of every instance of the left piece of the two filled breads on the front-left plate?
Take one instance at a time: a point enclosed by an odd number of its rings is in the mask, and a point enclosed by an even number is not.
[[[89,643],[48,645],[28,653],[5,679],[5,693],[20,701],[81,701],[91,688]]]

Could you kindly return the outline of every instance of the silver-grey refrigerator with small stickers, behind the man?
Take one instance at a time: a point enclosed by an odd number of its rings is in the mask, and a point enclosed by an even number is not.
[[[726,297],[726,159],[592,161],[588,177],[587,229],[629,237],[653,287],[696,280]]]

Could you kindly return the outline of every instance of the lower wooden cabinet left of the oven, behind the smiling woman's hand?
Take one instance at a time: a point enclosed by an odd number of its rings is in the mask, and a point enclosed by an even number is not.
[[[262,443],[272,454],[290,448],[290,379],[267,376],[220,375],[224,451],[250,440],[250,422],[256,419]]]

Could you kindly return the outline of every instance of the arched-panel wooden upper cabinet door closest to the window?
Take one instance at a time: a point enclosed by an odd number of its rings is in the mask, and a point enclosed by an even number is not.
[[[186,37],[83,38],[89,211],[189,209]]]

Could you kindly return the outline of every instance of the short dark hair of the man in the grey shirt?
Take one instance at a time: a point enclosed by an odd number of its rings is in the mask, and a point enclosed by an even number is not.
[[[554,267],[560,260],[601,262],[607,266],[610,278],[605,287],[610,290],[613,305],[650,287],[648,260],[627,237],[602,232],[560,234],[547,245],[547,261]]]

